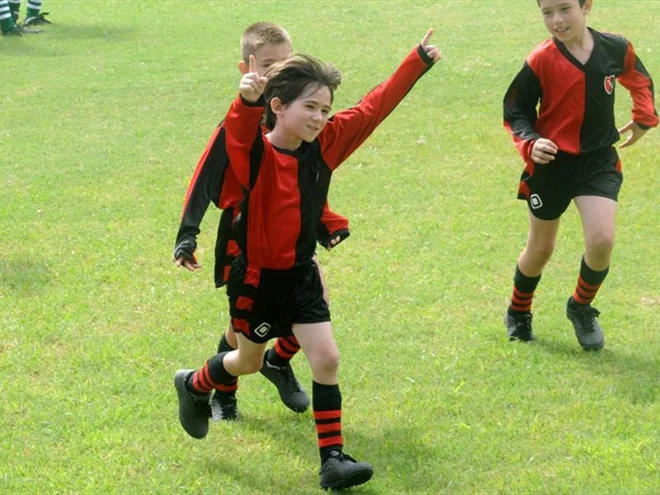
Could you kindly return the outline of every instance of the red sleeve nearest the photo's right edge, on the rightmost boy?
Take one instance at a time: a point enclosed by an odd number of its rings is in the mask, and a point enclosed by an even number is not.
[[[658,112],[653,101],[653,81],[630,42],[623,62],[623,73],[617,79],[630,91],[633,100],[632,119],[645,129],[656,127]]]

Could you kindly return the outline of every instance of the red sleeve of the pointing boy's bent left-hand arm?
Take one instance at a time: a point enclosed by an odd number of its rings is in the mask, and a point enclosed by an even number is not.
[[[229,107],[224,120],[229,168],[246,189],[250,189],[250,151],[255,143],[255,135],[258,140],[263,140],[260,124],[263,114],[261,103],[251,104],[239,95]]]

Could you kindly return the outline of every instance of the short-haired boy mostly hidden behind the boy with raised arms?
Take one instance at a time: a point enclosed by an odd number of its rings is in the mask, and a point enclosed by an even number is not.
[[[257,70],[263,74],[271,65],[291,55],[291,38],[281,26],[259,22],[244,31],[241,37],[241,52],[239,71],[242,74],[247,72],[248,59],[252,55],[255,57]],[[260,132],[255,132],[255,138],[257,134]],[[190,271],[200,268],[195,258],[199,227],[211,202],[220,208],[222,214],[215,243],[214,270],[215,285],[218,288],[227,283],[229,267],[240,253],[232,232],[232,223],[243,199],[243,188],[228,164],[226,129],[224,123],[220,123],[211,136],[188,186],[174,249],[177,265]],[[332,212],[326,204],[318,222],[316,240],[326,249],[331,249],[348,236],[348,220]],[[236,347],[236,337],[230,324],[220,340],[218,352],[230,351]],[[290,365],[290,360],[299,350],[300,346],[294,336],[278,338],[273,348],[266,353],[261,372],[278,388],[282,402],[289,409],[304,412],[309,407],[309,397],[298,383]],[[237,418],[237,388],[238,382],[214,393],[211,404],[215,419]]]

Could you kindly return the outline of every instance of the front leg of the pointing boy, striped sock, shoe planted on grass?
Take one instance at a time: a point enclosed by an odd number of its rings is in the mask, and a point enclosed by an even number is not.
[[[339,350],[330,322],[296,324],[293,333],[314,376],[312,402],[321,455],[321,487],[348,488],[366,483],[373,468],[343,454],[341,392],[337,380]]]

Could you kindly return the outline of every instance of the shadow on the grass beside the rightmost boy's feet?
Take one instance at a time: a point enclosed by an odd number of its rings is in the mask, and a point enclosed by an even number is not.
[[[660,383],[660,357],[649,359],[625,349],[610,349],[607,343],[598,352],[585,352],[577,345],[559,342],[539,341],[536,345],[549,353],[581,363],[585,376],[590,373],[611,377],[616,392],[628,397],[633,404],[652,404],[660,400],[657,385]]]

